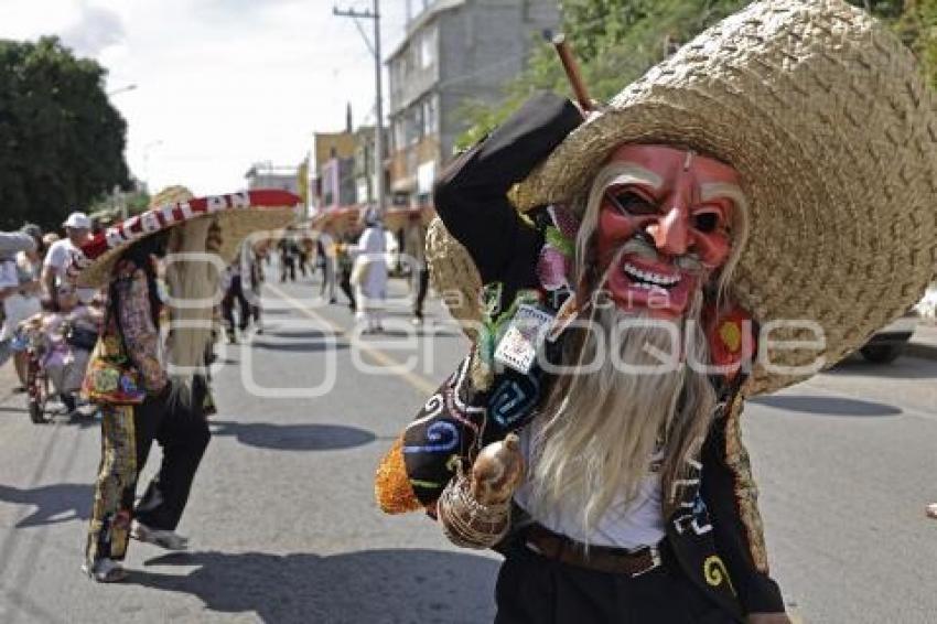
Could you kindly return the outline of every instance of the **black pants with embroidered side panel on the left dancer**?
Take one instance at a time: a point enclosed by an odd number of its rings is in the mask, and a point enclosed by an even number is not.
[[[88,531],[86,556],[123,559],[130,520],[150,528],[175,530],[211,439],[202,411],[205,386],[196,384],[189,408],[166,394],[148,397],[139,406],[101,408],[101,463]],[[157,440],[163,449],[160,471],[133,508],[137,478]]]

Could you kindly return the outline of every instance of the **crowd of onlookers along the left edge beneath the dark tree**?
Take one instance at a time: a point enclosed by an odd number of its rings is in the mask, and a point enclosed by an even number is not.
[[[91,237],[91,219],[75,212],[62,229],[64,236],[33,224],[0,232],[0,366],[12,359],[24,389],[29,358],[37,358],[64,411],[73,413],[103,301],[97,290],[65,280],[73,252]]]

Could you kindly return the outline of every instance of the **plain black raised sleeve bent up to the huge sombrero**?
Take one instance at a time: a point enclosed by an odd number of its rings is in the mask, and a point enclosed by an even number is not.
[[[536,283],[539,235],[517,215],[507,192],[581,122],[582,115],[568,99],[537,95],[437,181],[437,213],[468,250],[483,283]]]

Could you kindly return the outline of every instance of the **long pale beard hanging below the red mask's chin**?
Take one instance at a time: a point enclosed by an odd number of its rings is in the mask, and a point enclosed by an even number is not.
[[[690,319],[699,318],[700,301],[698,295]],[[617,351],[618,363],[666,368],[647,348],[671,353],[680,345],[671,345],[670,334],[659,326],[629,324],[616,333],[613,329],[623,320],[635,316],[615,306],[593,313],[594,329],[583,330],[582,348],[568,349],[564,357],[573,372],[557,380],[532,423],[528,510],[548,517],[559,506],[581,509],[585,535],[613,501],[622,495],[634,501],[657,452],[663,453],[664,492],[669,492],[685,460],[697,452],[714,404],[706,376],[685,364],[693,361],[689,357],[664,372],[635,374],[600,354],[597,369],[575,373],[589,369],[602,340],[610,352]],[[693,335],[688,355],[707,362],[704,338],[701,332]]]

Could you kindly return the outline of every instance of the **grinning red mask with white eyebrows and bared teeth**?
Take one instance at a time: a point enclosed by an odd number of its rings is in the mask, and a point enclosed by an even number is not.
[[[599,208],[599,269],[623,310],[681,318],[729,259],[743,195],[731,165],[668,146],[626,144]]]

